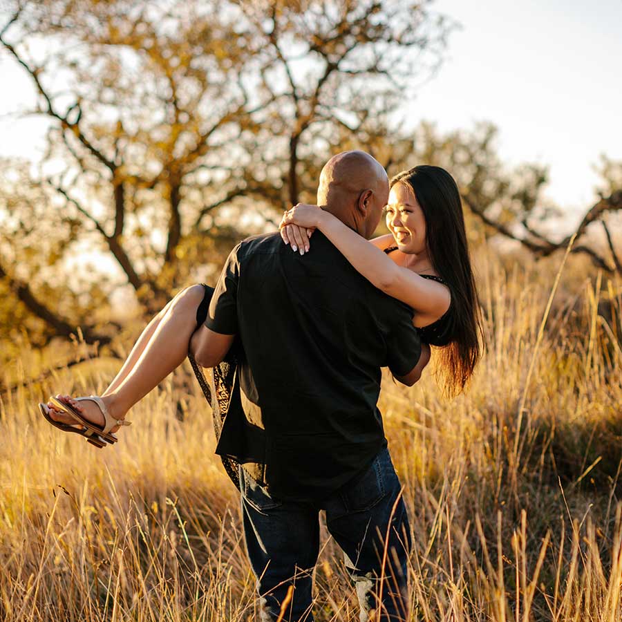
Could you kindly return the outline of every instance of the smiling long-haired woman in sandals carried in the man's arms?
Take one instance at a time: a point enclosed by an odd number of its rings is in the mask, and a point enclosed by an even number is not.
[[[328,212],[297,205],[283,217],[281,232],[285,243],[304,254],[312,230],[320,229],[366,279],[410,305],[422,342],[442,346],[444,384],[447,393],[457,393],[480,357],[480,319],[460,194],[451,175],[427,165],[399,173],[390,182],[386,223],[391,234],[369,243]],[[187,356],[209,296],[204,285],[180,292],[151,320],[101,397],[50,398],[47,406],[39,405],[46,419],[97,446],[115,442],[112,433],[129,424],[129,408]]]

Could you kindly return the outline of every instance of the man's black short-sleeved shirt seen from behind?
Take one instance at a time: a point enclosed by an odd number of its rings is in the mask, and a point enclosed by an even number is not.
[[[239,243],[205,324],[241,340],[240,410],[252,441],[232,421],[218,453],[265,464],[281,498],[321,500],[355,478],[386,445],[380,368],[402,376],[419,360],[412,316],[319,231],[303,256],[279,234]]]

